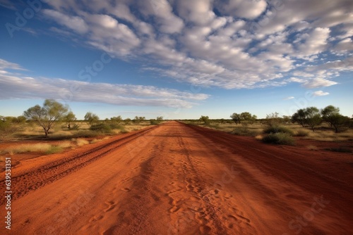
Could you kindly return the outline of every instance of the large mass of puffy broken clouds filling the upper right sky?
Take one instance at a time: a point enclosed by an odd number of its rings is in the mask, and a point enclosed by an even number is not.
[[[59,24],[52,32],[117,58],[145,61],[160,76],[190,84],[327,87],[337,84],[340,72],[353,70],[350,0],[48,4],[42,13]]]

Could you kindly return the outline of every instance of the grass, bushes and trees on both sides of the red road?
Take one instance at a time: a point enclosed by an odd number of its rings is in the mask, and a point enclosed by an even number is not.
[[[263,119],[243,112],[232,113],[228,119],[215,120],[201,115],[198,120],[182,121],[229,134],[252,136],[267,144],[295,145],[296,139],[353,141],[353,119],[341,115],[340,109],[335,106],[327,106],[321,110],[316,107],[301,108],[292,116],[280,117],[279,113],[270,113]],[[146,120],[145,117],[124,119],[117,115],[101,120],[97,114],[90,111],[85,114],[84,120],[78,120],[69,106],[47,99],[42,106],[28,108],[21,116],[0,116],[0,141],[56,141],[54,144],[22,144],[3,149],[2,153],[59,153],[66,148],[94,144],[107,136],[160,125],[162,122],[162,116]],[[337,148],[332,151],[344,152],[347,149]]]

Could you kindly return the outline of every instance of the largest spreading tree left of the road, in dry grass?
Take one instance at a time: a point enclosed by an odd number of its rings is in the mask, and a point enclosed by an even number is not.
[[[45,136],[48,136],[49,129],[54,127],[55,122],[63,120],[68,113],[68,106],[55,101],[46,99],[43,106],[33,106],[23,112],[23,116],[32,120],[43,128]]]

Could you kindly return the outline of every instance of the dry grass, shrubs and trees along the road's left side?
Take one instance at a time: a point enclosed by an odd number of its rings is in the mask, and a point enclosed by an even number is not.
[[[136,116],[131,120],[120,115],[100,120],[92,112],[86,113],[84,120],[77,120],[69,106],[46,99],[42,106],[28,108],[18,117],[0,116],[0,142],[12,143],[1,148],[0,153],[60,153],[68,148],[95,144],[116,134],[160,125],[163,121],[162,116],[151,120]]]

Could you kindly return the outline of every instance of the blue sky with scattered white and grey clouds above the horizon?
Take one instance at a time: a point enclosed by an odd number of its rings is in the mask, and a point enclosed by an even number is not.
[[[0,0],[0,115],[353,113],[351,0]]]

